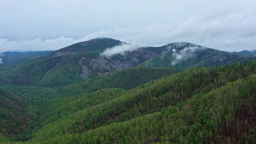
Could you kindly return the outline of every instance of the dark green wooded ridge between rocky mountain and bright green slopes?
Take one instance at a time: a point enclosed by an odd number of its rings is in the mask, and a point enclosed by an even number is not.
[[[105,88],[121,88],[130,90],[143,83],[154,81],[163,76],[178,72],[175,68],[134,67],[95,77],[64,87],[64,91],[95,91]]]

